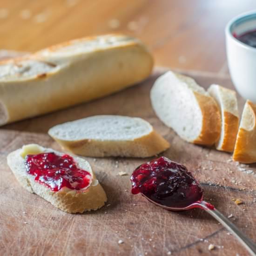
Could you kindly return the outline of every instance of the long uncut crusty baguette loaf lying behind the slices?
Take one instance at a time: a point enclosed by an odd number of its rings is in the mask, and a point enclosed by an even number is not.
[[[114,93],[147,78],[152,67],[141,41],[118,34],[0,61],[0,125]]]

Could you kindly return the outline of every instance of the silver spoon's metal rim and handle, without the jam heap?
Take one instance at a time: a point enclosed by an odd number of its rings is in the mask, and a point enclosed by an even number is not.
[[[193,208],[200,208],[206,210],[211,216],[213,216],[218,222],[220,222],[226,229],[228,229],[234,236],[236,236],[237,240],[243,244],[243,246],[248,250],[248,252],[252,256],[256,256],[256,244],[252,242],[248,237],[246,237],[243,232],[241,232],[232,222],[229,221],[222,213],[220,213],[213,205],[209,202],[203,201],[203,197],[201,200],[191,203],[189,206],[184,208],[177,207],[168,207],[162,204],[159,204],[151,199],[149,199],[146,195],[142,194],[144,197],[148,199],[149,202],[154,203],[157,206],[160,206],[164,209],[170,211],[184,211]]]

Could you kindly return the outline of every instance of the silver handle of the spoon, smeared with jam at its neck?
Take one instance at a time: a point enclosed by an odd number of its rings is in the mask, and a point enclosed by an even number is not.
[[[218,222],[220,222],[226,229],[228,229],[240,243],[248,250],[252,256],[256,256],[256,243],[246,237],[232,222],[229,221],[222,213],[217,209],[209,209],[208,203],[205,201],[199,202],[200,208],[206,210],[211,216],[213,216]]]

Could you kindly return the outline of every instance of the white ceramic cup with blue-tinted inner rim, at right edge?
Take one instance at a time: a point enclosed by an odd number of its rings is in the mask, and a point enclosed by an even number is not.
[[[238,93],[256,103],[256,48],[237,40],[241,35],[256,30],[256,10],[236,16],[226,26],[226,50],[229,72]]]

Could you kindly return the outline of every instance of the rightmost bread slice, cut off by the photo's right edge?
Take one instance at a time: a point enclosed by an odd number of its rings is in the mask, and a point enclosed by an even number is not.
[[[236,137],[233,160],[256,162],[256,104],[246,101]]]

